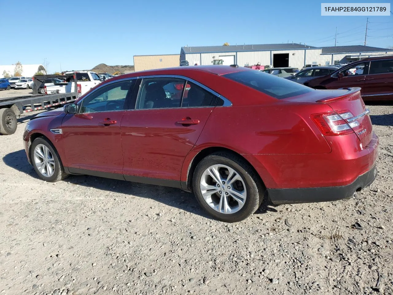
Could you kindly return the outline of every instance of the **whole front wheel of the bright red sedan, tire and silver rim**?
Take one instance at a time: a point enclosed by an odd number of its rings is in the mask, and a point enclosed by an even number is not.
[[[68,177],[55,147],[46,138],[38,137],[30,147],[34,170],[44,181],[56,182]]]

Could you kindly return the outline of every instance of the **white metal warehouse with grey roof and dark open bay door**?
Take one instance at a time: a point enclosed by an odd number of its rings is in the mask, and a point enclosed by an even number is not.
[[[393,50],[369,46],[314,47],[304,44],[253,44],[182,47],[180,60],[189,65],[272,65],[302,68],[307,64],[347,63],[361,58],[393,55]]]

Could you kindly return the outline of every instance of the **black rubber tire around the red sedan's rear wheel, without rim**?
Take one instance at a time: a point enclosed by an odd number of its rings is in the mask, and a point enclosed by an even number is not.
[[[246,184],[247,197],[242,208],[232,214],[224,214],[217,212],[211,208],[200,191],[200,179],[206,169],[215,164],[223,164],[234,169],[244,180]],[[241,157],[227,152],[217,152],[208,155],[202,159],[195,168],[193,173],[193,191],[199,205],[204,208],[215,219],[224,222],[242,221],[251,216],[261,205],[265,194],[265,189],[257,173],[253,168]]]

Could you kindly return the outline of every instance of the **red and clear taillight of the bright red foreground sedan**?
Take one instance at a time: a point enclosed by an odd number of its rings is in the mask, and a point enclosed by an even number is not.
[[[325,136],[353,133],[352,128],[359,126],[359,122],[357,120],[347,122],[346,120],[351,117],[353,117],[353,114],[349,111],[325,112],[311,115],[312,120]]]

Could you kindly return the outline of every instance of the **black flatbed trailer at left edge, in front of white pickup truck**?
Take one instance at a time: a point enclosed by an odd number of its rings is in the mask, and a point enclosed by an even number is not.
[[[76,79],[74,76],[75,88]],[[79,98],[78,92],[37,94],[0,98],[0,134],[11,135],[17,130],[17,116],[42,109],[59,107]]]

